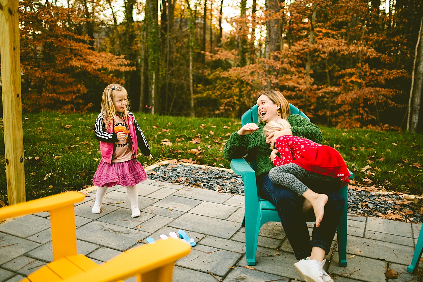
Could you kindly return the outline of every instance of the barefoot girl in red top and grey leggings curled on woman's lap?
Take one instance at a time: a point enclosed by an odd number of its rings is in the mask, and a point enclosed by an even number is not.
[[[272,143],[272,132],[289,128],[291,126],[286,119],[269,121],[263,128],[266,142]],[[313,206],[316,227],[319,227],[328,197],[313,192],[302,181],[320,181],[323,186],[327,184],[330,187],[341,187],[341,184],[349,182],[350,176],[345,161],[341,154],[330,146],[298,136],[280,136],[275,140],[275,147],[270,159],[276,167],[269,171],[270,180],[307,199]],[[277,153],[280,156],[277,156]]]

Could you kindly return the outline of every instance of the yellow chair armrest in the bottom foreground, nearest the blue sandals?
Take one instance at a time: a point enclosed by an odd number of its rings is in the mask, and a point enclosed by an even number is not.
[[[146,274],[162,267],[173,267],[173,263],[176,260],[188,255],[190,251],[190,245],[169,238],[168,240],[157,241],[151,245],[143,245],[131,249],[101,266],[65,279],[63,282],[112,282],[123,280],[137,274]],[[71,260],[71,257],[69,259]]]

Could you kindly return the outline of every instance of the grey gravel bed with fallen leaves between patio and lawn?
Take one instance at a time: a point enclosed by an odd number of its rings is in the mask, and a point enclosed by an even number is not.
[[[164,164],[148,171],[147,174],[152,180],[244,195],[241,176],[215,167]],[[421,223],[423,222],[421,207],[421,200],[410,199],[404,194],[380,194],[348,189],[349,211],[365,216]]]

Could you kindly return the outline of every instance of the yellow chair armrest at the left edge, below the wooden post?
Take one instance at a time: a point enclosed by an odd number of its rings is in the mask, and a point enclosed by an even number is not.
[[[0,208],[0,219],[33,214],[40,211],[52,211],[67,205],[73,206],[74,203],[78,203],[84,198],[84,194],[73,191],[7,206]]]

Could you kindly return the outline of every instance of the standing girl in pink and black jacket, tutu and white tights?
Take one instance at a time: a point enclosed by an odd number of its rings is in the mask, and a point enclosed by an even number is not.
[[[100,213],[107,187],[121,185],[126,186],[132,218],[140,216],[135,185],[145,181],[147,175],[144,167],[137,161],[137,147],[140,147],[148,160],[153,156],[134,114],[129,112],[128,93],[123,86],[110,84],[104,89],[101,112],[96,119],[94,133],[100,141],[102,160],[93,178],[93,184],[99,188],[91,212]]]

